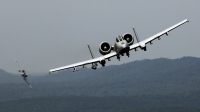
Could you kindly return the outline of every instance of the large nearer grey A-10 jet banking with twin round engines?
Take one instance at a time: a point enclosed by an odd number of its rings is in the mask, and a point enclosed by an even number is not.
[[[55,69],[51,69],[49,70],[49,73],[51,72],[55,72],[55,71],[60,71],[60,70],[64,70],[64,69],[68,69],[68,68],[73,68],[74,72],[77,71],[77,67],[78,66],[85,66],[88,64],[92,64],[92,69],[96,69],[97,68],[97,63],[100,63],[102,66],[105,66],[106,64],[106,59],[108,59],[108,61],[110,61],[110,58],[117,56],[117,59],[120,60],[120,56],[124,56],[124,54],[126,54],[129,57],[129,51],[130,50],[135,50],[137,51],[137,48],[140,48],[144,51],[147,50],[147,44],[150,43],[152,44],[152,41],[155,39],[160,40],[160,37],[163,35],[169,35],[169,32],[172,31],[173,29],[183,25],[184,23],[189,22],[189,20],[185,19],[163,31],[161,31],[160,33],[157,33],[143,41],[140,41],[137,33],[135,31],[135,29],[133,28],[135,37],[137,39],[137,43],[133,44],[134,42],[134,38],[131,34],[129,33],[125,33],[124,35],[118,35],[116,37],[116,42],[114,44],[114,46],[111,46],[110,43],[104,41],[100,44],[99,47],[99,52],[103,55],[101,57],[95,58],[90,46],[88,45],[88,48],[90,50],[90,53],[92,55],[93,59],[87,60],[87,61],[83,61],[83,62],[79,62],[79,63],[75,63],[75,64],[71,64],[71,65],[67,65],[67,66],[63,66],[63,67],[59,67],[59,68],[55,68]],[[112,52],[111,52],[112,51]]]

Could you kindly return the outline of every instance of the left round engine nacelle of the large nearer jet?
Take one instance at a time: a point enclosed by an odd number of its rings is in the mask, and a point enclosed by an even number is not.
[[[111,45],[108,42],[102,42],[99,46],[99,52],[102,55],[109,54],[111,52]]]

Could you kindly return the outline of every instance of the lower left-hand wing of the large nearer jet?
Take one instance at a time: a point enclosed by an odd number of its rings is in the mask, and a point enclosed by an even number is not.
[[[86,60],[86,61],[83,61],[83,62],[79,62],[79,63],[75,63],[75,64],[71,64],[71,65],[67,65],[67,66],[63,66],[63,67],[59,67],[59,68],[55,68],[55,69],[51,69],[51,70],[49,70],[49,73],[64,70],[64,69],[69,69],[69,68],[76,68],[78,66],[85,66],[85,65],[88,65],[88,64],[96,63],[96,62],[101,62],[101,60],[111,58],[111,57],[115,56],[116,54],[117,54],[116,52],[111,52],[107,55],[97,57],[97,58],[94,58],[94,59]]]

